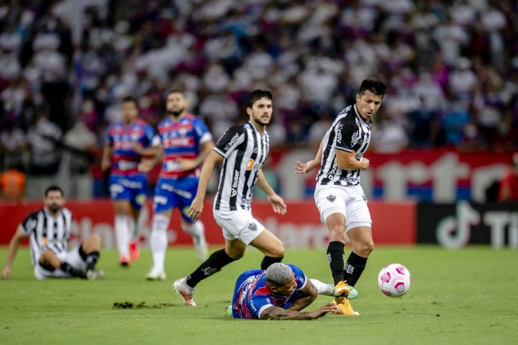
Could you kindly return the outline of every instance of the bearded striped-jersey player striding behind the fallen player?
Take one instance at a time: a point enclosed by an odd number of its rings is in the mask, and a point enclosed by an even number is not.
[[[284,246],[280,239],[253,218],[250,207],[253,186],[257,184],[268,196],[274,211],[281,215],[286,213],[284,201],[271,189],[261,169],[269,152],[266,127],[271,121],[271,101],[269,90],[251,92],[247,104],[249,121],[229,128],[203,165],[198,192],[189,215],[193,221],[200,218],[213,168],[222,162],[213,215],[223,230],[225,248],[213,253],[191,275],[175,282],[174,288],[182,295],[186,306],[196,305],[193,300],[196,284],[219,272],[223,266],[240,259],[248,245],[265,254],[261,263],[263,270],[284,257]]]

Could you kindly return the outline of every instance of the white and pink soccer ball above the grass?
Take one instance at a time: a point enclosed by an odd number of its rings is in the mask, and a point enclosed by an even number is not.
[[[407,268],[401,264],[390,264],[383,267],[378,274],[378,286],[388,297],[400,297],[410,290],[412,277]]]

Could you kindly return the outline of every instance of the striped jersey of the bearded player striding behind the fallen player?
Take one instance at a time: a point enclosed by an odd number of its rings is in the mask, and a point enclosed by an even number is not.
[[[224,157],[215,210],[250,210],[253,186],[269,152],[268,133],[260,135],[251,122],[224,132],[214,150]]]

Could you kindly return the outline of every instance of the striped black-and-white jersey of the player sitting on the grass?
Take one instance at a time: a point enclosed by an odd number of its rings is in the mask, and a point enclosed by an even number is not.
[[[35,265],[46,249],[56,254],[68,250],[72,213],[68,208],[61,208],[59,215],[52,217],[48,210],[43,208],[28,215],[19,227],[22,233],[29,237],[30,257]]]

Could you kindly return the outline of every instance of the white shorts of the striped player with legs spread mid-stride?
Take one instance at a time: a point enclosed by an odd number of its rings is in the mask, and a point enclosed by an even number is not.
[[[216,223],[223,229],[223,237],[229,241],[240,239],[247,246],[265,230],[265,226],[253,218],[247,210],[213,210]]]

